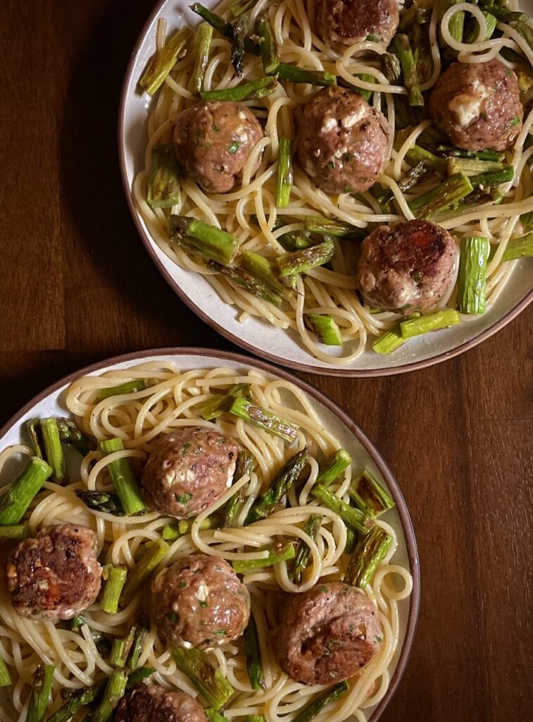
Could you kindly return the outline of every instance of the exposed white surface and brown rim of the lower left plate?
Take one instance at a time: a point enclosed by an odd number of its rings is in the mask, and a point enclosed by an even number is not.
[[[369,438],[366,437],[364,432],[361,431],[348,414],[343,412],[342,409],[336,406],[323,393],[309,386],[309,384],[304,383],[304,381],[299,380],[299,378],[284,373],[263,362],[237,354],[203,349],[159,349],[156,351],[136,352],[105,360],[84,368],[77,373],[63,378],[63,380],[54,386],[47,388],[43,393],[40,393],[39,396],[36,396],[35,399],[32,399],[32,401],[26,404],[26,406],[21,409],[18,414],[15,414],[0,430],[0,449],[20,443],[22,440],[21,431],[27,419],[34,417],[65,416],[69,414],[65,405],[66,389],[69,383],[75,378],[87,374],[101,375],[111,369],[125,368],[140,362],[158,359],[172,360],[184,370],[193,368],[231,367],[245,372],[250,368],[257,368],[257,370],[263,372],[268,378],[281,377],[291,381],[291,383],[299,386],[304,393],[307,393],[309,400],[312,402],[314,408],[317,409],[327,428],[340,439],[342,445],[352,454],[354,464],[361,469],[366,467],[373,471],[376,478],[389,490],[395,500],[396,507],[387,512],[387,516],[384,518],[394,526],[397,532],[398,548],[393,558],[397,564],[409,567],[413,575],[413,593],[409,599],[401,601],[399,605],[400,644],[398,645],[395,658],[391,663],[389,690],[371,715],[371,722],[376,722],[382,710],[384,710],[392,697],[397,684],[400,682],[413,643],[418,618],[418,606],[420,603],[418,552],[416,549],[413,525],[407,507],[405,506],[402,492],[400,492],[400,488],[392,476],[389,467],[379,455],[379,452]],[[13,467],[11,467],[11,469],[4,468],[4,473],[0,478],[0,484],[11,482],[13,476]],[[0,705],[6,706],[6,709],[9,708],[5,690],[0,690]]]

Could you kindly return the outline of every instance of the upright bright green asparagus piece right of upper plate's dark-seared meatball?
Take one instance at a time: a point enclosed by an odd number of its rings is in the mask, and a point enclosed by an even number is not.
[[[461,313],[485,313],[485,284],[490,251],[488,238],[466,236],[461,240],[457,308]]]

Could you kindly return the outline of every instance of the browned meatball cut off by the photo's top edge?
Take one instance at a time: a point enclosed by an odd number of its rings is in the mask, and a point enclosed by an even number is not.
[[[318,0],[317,28],[325,43],[389,45],[400,22],[397,0]]]

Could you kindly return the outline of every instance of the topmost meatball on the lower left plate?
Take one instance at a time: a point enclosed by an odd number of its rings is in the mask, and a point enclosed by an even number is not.
[[[177,519],[197,516],[232,485],[238,451],[214,429],[184,427],[164,436],[144,467],[146,501]]]

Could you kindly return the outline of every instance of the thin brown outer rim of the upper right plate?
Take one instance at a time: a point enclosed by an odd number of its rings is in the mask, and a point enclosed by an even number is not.
[[[292,369],[298,370],[298,371],[304,371],[307,373],[314,373],[321,376],[335,376],[335,377],[343,377],[343,378],[373,378],[378,376],[392,376],[397,375],[400,373],[410,373],[410,371],[418,371],[423,368],[427,368],[433,365],[436,365],[438,363],[441,363],[443,361],[449,360],[451,358],[454,358],[456,356],[459,356],[460,354],[467,352],[468,350],[474,348],[478,344],[483,343],[487,339],[490,338],[490,336],[493,336],[494,334],[497,334],[498,331],[501,331],[505,326],[507,326],[508,323],[511,323],[516,316],[519,316],[522,311],[524,311],[527,306],[533,302],[533,289],[530,290],[527,295],[524,296],[524,298],[519,301],[519,303],[514,306],[514,308],[511,308],[505,316],[502,316],[498,321],[493,323],[492,326],[489,326],[488,329],[485,329],[484,331],[480,331],[479,334],[472,337],[472,339],[469,339],[468,341],[463,342],[462,344],[459,344],[459,346],[456,346],[454,349],[449,349],[449,351],[444,351],[441,353],[437,353],[434,356],[431,356],[427,359],[423,359],[420,361],[413,361],[410,363],[403,364],[401,366],[387,366],[383,368],[378,369],[350,369],[350,368],[342,368],[342,367],[332,367],[332,368],[323,368],[323,367],[315,367],[312,365],[312,362],[309,362],[309,364],[300,362],[300,361],[294,361],[291,359],[286,359],[282,356],[273,354],[268,352],[266,349],[259,349],[255,347],[254,345],[248,343],[245,341],[245,339],[240,338],[239,336],[236,336],[235,334],[232,334],[231,331],[224,328],[221,323],[215,320],[212,316],[208,316],[207,313],[205,313],[198,305],[196,305],[193,300],[190,299],[190,297],[187,295],[185,290],[182,289],[180,284],[175,282],[175,280],[172,278],[172,276],[169,274],[169,271],[164,267],[162,264],[162,261],[157,256],[157,253],[154,249],[155,241],[147,234],[144,230],[143,225],[141,224],[141,220],[138,217],[138,212],[135,207],[135,204],[133,203],[133,195],[131,192],[131,188],[128,186],[128,178],[127,173],[125,169],[125,133],[124,133],[124,116],[125,116],[125,104],[127,100],[127,90],[128,86],[131,82],[131,77],[133,74],[133,66],[135,64],[136,58],[138,56],[138,53],[140,51],[141,45],[144,42],[144,38],[146,36],[146,32],[149,30],[149,27],[151,26],[152,22],[154,22],[155,17],[157,17],[157,14],[160,12],[162,6],[167,2],[167,0],[158,0],[156,5],[154,6],[154,9],[152,10],[151,14],[149,15],[148,19],[144,23],[141,32],[136,40],[136,43],[133,47],[133,51],[131,53],[131,57],[128,61],[128,66],[126,67],[125,71],[125,77],[122,84],[122,89],[120,90],[120,104],[118,108],[118,160],[119,160],[119,166],[120,166],[120,178],[122,180],[126,201],[128,202],[128,208],[130,209],[131,216],[133,218],[133,222],[136,225],[138,234],[141,237],[141,241],[146,248],[146,251],[148,251],[149,256],[151,257],[151,260],[154,261],[154,264],[156,265],[159,273],[162,275],[164,280],[169,284],[169,286],[172,288],[172,290],[175,292],[177,297],[182,300],[183,303],[185,303],[190,310],[195,313],[195,316],[198,316],[203,323],[206,323],[208,326],[211,327],[211,329],[214,329],[217,331],[221,336],[224,336],[224,338],[231,341],[233,344],[235,344],[237,347],[244,349],[245,351],[258,356],[260,358],[266,359],[268,361],[274,362],[276,364],[279,364],[281,366],[288,366]],[[312,357],[311,357],[312,359]]]

